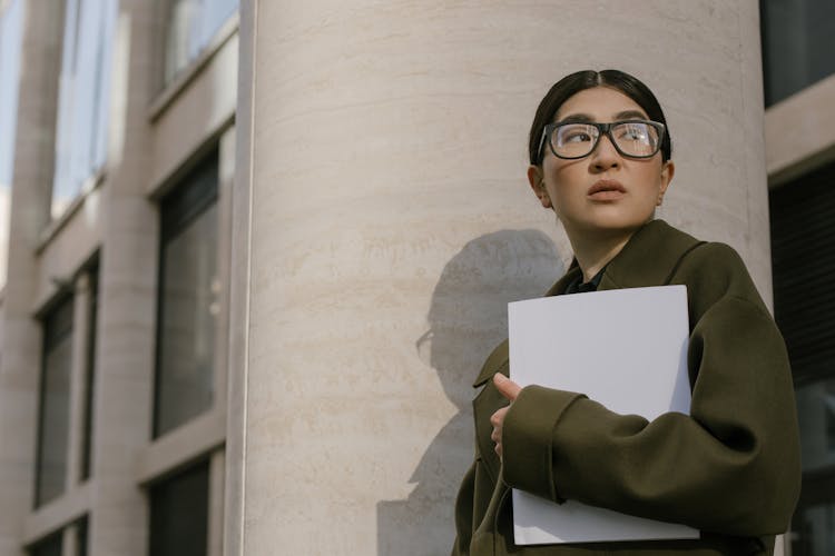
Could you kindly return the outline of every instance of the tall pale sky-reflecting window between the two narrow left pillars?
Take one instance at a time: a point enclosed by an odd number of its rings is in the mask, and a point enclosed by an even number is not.
[[[118,0],[66,0],[52,217],[105,165]]]

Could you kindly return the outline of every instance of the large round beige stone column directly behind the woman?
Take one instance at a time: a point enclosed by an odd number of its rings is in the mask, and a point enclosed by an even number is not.
[[[661,216],[770,297],[757,21],[734,0],[242,2],[227,554],[449,552],[470,384],[504,304],[570,256],[525,181],[569,72],[655,90]]]

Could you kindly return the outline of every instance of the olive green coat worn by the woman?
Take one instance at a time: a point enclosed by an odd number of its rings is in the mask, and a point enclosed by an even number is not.
[[[564,292],[576,265],[548,295]],[[785,344],[739,256],[655,220],[609,262],[599,290],[687,286],[690,415],[654,421],[617,415],[582,394],[523,388],[503,426],[504,460],[490,416],[507,405],[490,378],[508,373],[508,344],[474,386],[475,461],[455,504],[453,555],[768,554],[786,530],[800,465]],[[698,528],[699,539],[513,544],[510,487]]]

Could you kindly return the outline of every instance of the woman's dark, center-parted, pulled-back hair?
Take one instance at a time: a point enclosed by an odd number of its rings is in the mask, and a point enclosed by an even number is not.
[[[528,139],[528,153],[531,165],[539,166],[542,163],[542,153],[537,151],[539,149],[540,140],[542,139],[542,130],[547,125],[553,121],[553,118],[562,103],[566,102],[569,97],[586,89],[593,89],[595,87],[609,87],[622,92],[630,99],[635,100],[635,102],[647,112],[650,120],[664,123],[667,130],[664,133],[664,140],[661,141],[661,158],[665,162],[670,159],[672,156],[670,129],[669,126],[667,126],[667,119],[664,117],[661,106],[658,103],[656,96],[652,95],[652,91],[649,90],[649,87],[644,85],[637,78],[622,71],[583,70],[566,76],[557,81],[539,103],[537,115],[533,117],[533,123],[531,125],[531,135]],[[542,151],[544,151],[544,148]]]

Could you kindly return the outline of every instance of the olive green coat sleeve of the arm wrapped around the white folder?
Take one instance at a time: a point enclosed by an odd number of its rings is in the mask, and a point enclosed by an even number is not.
[[[786,530],[800,467],[785,344],[736,252],[697,251],[678,278],[691,314],[690,415],[648,421],[527,387],[504,421],[509,486],[726,535]]]

